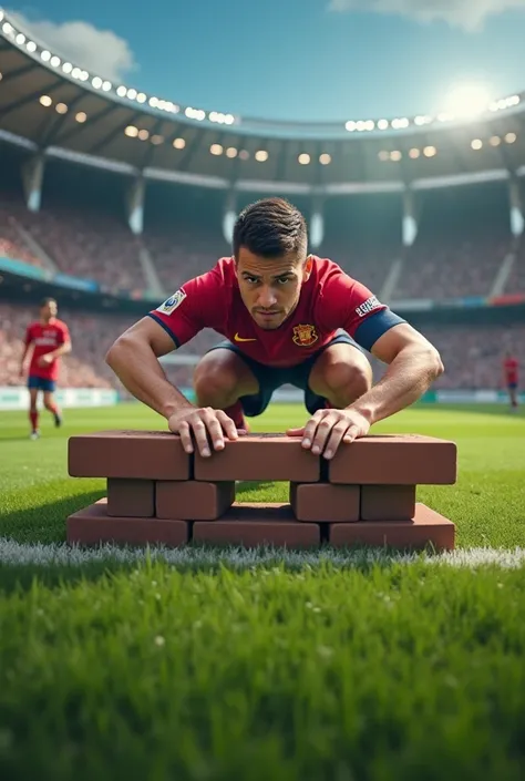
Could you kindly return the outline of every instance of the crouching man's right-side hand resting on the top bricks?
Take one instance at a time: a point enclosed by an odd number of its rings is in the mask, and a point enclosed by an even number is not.
[[[301,429],[288,429],[289,436],[302,436],[302,446],[315,455],[332,459],[341,442],[349,443],[370,431],[370,422],[357,410],[318,410]]]

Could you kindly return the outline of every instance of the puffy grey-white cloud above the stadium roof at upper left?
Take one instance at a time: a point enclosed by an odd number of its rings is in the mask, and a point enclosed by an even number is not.
[[[31,31],[50,51],[105,79],[122,81],[137,69],[128,42],[111,30],[99,30],[81,20],[61,24],[31,21],[17,11],[9,11],[9,17],[13,23]]]

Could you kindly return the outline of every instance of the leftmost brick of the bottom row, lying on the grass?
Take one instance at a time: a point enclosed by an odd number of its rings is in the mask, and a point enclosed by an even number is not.
[[[186,521],[111,517],[107,515],[106,500],[101,499],[70,515],[66,521],[66,538],[69,543],[82,545],[123,543],[177,547],[187,543],[189,524]]]

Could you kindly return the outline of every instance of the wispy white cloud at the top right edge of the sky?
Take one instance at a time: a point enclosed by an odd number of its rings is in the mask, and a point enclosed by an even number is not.
[[[469,31],[480,30],[488,17],[525,10],[525,0],[330,0],[330,11],[369,11],[408,17],[418,22],[444,21]]]

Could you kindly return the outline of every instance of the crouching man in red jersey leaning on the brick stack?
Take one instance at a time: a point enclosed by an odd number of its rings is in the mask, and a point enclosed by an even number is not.
[[[196,367],[192,404],[157,358],[204,328],[225,341]],[[373,388],[363,349],[390,364]],[[233,256],[127,329],[105,360],[136,399],[166,418],[187,452],[195,441],[204,456],[225,446],[225,434],[246,433],[244,415],[259,415],[274,391],[291,383],[303,390],[310,418],[287,434],[332,458],[341,442],[415,402],[443,371],[421,333],[339,265],[308,254],[305,218],[281,198],[244,209]]]

